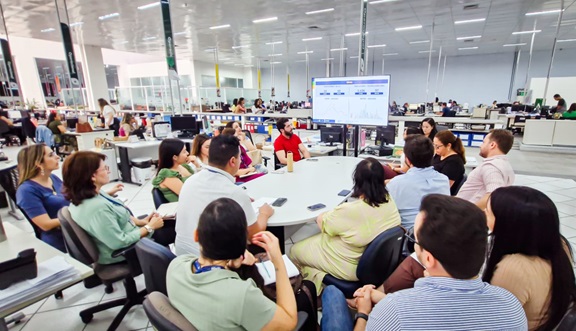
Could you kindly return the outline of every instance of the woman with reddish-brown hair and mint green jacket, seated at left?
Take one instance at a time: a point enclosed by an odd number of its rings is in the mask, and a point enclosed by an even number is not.
[[[63,194],[70,200],[69,210],[74,221],[94,239],[98,263],[112,264],[124,261],[123,256],[112,257],[114,251],[143,237],[154,234],[156,238],[155,232],[164,226],[164,220],[156,213],[138,219],[120,200],[102,190],[110,181],[105,160],[105,155],[89,151],[68,156],[62,169]]]

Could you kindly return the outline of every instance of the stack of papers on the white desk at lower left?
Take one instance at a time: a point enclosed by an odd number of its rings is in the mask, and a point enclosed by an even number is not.
[[[38,264],[38,276],[12,284],[0,291],[0,310],[26,302],[42,293],[58,289],[62,284],[78,279],[78,271],[64,257],[56,256]]]

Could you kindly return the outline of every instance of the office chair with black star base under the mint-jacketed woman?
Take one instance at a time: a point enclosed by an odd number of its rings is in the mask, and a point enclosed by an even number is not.
[[[119,280],[123,281],[126,289],[125,298],[108,301],[80,312],[82,322],[89,323],[94,317],[94,313],[122,306],[122,309],[120,309],[120,312],[118,312],[118,315],[116,315],[112,324],[108,327],[108,331],[116,330],[130,308],[141,304],[146,295],[146,291],[138,292],[136,282],[134,281],[134,277],[142,273],[140,268],[137,267],[137,258],[135,256],[132,259],[127,258],[127,263],[99,264],[97,262],[98,249],[94,241],[90,235],[72,219],[68,207],[60,209],[58,219],[60,220],[62,233],[64,234],[64,242],[66,243],[70,256],[86,265],[91,265],[94,268],[96,276],[98,276],[106,286],[112,285]],[[121,249],[112,256],[127,257],[131,253],[134,253],[133,246]]]

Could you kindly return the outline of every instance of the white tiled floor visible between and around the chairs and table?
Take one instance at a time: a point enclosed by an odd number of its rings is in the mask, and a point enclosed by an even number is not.
[[[6,154],[14,158],[20,148],[7,147]],[[468,155],[477,155],[477,148],[468,148]],[[546,193],[555,203],[561,217],[561,231],[569,238],[573,247],[576,248],[576,155],[537,153],[513,149],[510,161],[517,172],[516,185],[530,186]],[[60,175],[58,172],[57,175]],[[126,185],[120,196],[128,198],[128,206],[136,215],[151,212],[152,185],[150,182],[142,186]],[[8,214],[8,209],[0,209],[4,222],[10,222],[30,232],[32,228],[25,221],[17,221]],[[286,242],[289,250],[293,242],[307,238],[318,232],[315,224],[307,224],[295,233]],[[139,289],[144,288],[143,277],[137,278]],[[75,285],[64,292],[64,298],[56,300],[54,297],[44,299],[26,309],[26,319],[18,324],[11,325],[10,330],[104,330],[120,309],[109,309],[98,313],[90,324],[85,325],[80,320],[78,313],[99,302],[105,302],[124,295],[124,289],[120,284],[115,285],[115,291],[105,294],[102,286],[85,289],[82,284]],[[124,318],[118,330],[152,330],[142,306],[132,308]]]

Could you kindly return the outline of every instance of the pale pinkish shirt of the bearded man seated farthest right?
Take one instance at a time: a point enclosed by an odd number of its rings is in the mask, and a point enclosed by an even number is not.
[[[468,179],[458,191],[457,197],[476,203],[486,193],[492,193],[499,187],[514,184],[514,170],[506,155],[487,158],[480,166],[470,172]]]

